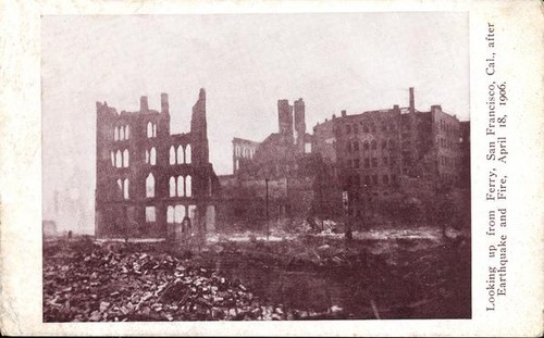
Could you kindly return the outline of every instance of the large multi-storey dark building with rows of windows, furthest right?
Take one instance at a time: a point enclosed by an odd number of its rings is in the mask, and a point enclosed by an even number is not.
[[[467,161],[460,147],[466,128],[441,105],[418,111],[410,88],[407,108],[342,111],[341,116],[318,124],[313,150],[334,167],[349,214],[369,220],[380,204],[387,212],[395,201],[390,196],[398,198],[403,192],[406,199],[425,189],[433,193],[441,187],[459,186]],[[337,199],[338,191],[330,196]]]

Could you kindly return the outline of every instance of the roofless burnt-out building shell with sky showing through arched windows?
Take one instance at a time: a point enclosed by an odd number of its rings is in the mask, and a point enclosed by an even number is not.
[[[170,133],[170,107],[140,98],[137,112],[97,102],[97,237],[181,236],[213,229],[219,181],[209,162],[206,92],[193,107],[190,132]]]

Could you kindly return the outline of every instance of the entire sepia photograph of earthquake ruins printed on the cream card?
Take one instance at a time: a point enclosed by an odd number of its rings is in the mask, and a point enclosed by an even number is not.
[[[40,25],[44,323],[472,318],[468,12]]]

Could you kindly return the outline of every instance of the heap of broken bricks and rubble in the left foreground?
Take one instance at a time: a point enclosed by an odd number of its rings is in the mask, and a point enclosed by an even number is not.
[[[285,320],[240,283],[168,253],[96,247],[44,266],[45,322]],[[296,313],[295,313],[296,315]]]

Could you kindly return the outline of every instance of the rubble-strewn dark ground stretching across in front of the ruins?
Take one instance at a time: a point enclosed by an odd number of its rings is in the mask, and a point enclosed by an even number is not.
[[[44,321],[468,318],[470,237],[421,229],[44,243]]]

